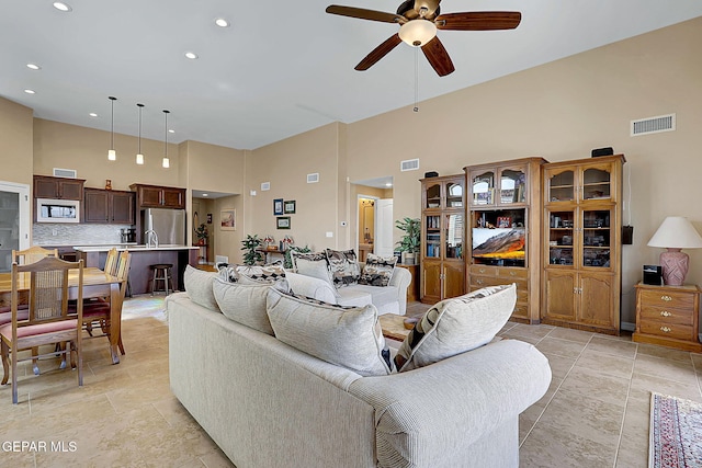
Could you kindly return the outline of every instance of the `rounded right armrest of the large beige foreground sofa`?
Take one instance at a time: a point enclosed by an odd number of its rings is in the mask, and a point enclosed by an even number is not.
[[[471,459],[462,447],[516,424],[550,384],[551,367],[541,352],[502,340],[427,367],[358,379],[350,392],[375,409],[378,467],[443,467]]]

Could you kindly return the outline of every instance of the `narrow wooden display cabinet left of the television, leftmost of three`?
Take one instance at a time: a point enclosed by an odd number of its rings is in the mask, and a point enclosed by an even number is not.
[[[420,300],[434,304],[465,293],[465,175],[421,180]]]

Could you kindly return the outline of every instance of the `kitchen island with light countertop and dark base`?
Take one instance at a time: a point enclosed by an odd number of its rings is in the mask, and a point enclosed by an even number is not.
[[[196,246],[163,244],[159,247],[146,247],[144,244],[122,243],[115,246],[76,246],[78,259],[82,259],[86,266],[103,269],[107,251],[112,248],[117,251],[128,250],[132,253],[129,265],[129,289],[132,294],[146,294],[149,292],[149,282],[154,272],[149,265],[156,263],[171,263],[173,265],[173,289],[183,288],[183,272],[186,265],[197,265]]]

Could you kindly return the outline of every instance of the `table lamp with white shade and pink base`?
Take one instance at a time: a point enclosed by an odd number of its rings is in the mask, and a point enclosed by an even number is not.
[[[660,254],[663,281],[668,286],[682,286],[690,258],[681,249],[702,248],[702,237],[682,216],[668,216],[648,241],[648,247],[668,249]]]

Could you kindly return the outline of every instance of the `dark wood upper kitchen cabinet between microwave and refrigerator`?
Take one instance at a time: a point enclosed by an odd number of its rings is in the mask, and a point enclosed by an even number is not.
[[[134,225],[134,192],[86,189],[83,222]]]

